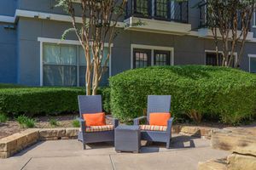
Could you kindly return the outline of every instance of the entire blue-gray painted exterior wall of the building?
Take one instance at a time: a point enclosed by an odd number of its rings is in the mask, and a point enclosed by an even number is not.
[[[189,1],[189,24],[198,27],[199,11],[194,8],[199,0]],[[79,4],[77,4],[79,5]],[[55,0],[4,0],[0,1],[0,15],[14,16],[15,8],[44,13],[66,14],[61,8],[53,8]],[[40,42],[38,37],[60,39],[71,23],[20,17],[16,30],[0,22],[0,82],[40,85]],[[256,28],[253,28],[254,37]],[[77,40],[74,33],[68,40]],[[131,44],[174,48],[174,65],[205,65],[206,50],[214,50],[211,39],[193,36],[175,36],[143,31],[121,31],[113,42],[110,60],[112,76],[131,69]],[[256,54],[256,43],[247,42],[241,69],[249,70],[248,54]],[[104,83],[107,80],[103,81]]]

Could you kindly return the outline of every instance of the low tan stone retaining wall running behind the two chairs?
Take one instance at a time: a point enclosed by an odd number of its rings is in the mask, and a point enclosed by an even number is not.
[[[211,127],[174,125],[172,133],[183,133],[197,137],[211,137]],[[0,158],[8,158],[20,150],[45,140],[77,139],[79,128],[33,128],[0,139]]]

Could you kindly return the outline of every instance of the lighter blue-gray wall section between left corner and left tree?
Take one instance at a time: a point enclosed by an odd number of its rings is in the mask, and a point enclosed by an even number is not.
[[[18,83],[31,86],[40,85],[40,42],[38,42],[38,37],[61,39],[63,31],[70,27],[71,23],[66,22],[20,18],[18,25]],[[70,33],[67,39],[76,40],[76,37]]]

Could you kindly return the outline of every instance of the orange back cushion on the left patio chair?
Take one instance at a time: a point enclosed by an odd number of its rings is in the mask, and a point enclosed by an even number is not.
[[[86,126],[104,126],[106,125],[105,113],[84,113],[83,118]]]

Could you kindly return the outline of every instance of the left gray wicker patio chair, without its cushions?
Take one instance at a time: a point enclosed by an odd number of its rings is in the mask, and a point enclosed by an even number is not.
[[[86,132],[86,120],[83,118],[84,113],[99,113],[102,112],[102,96],[86,96],[79,95],[79,113],[80,117],[78,118],[80,122],[81,131],[79,132],[79,141],[83,143],[84,150],[85,144],[97,143],[97,142],[113,142],[114,141],[114,128],[113,130],[105,130],[99,132]],[[109,119],[113,120],[113,126],[117,127],[119,121],[112,117],[107,116]]]

